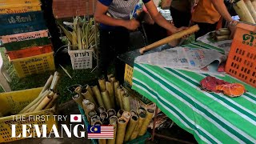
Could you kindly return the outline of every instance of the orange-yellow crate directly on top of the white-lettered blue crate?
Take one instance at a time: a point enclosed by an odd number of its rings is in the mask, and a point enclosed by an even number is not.
[[[18,4],[18,5],[0,5],[0,14],[17,14],[30,11],[39,11],[41,4]]]

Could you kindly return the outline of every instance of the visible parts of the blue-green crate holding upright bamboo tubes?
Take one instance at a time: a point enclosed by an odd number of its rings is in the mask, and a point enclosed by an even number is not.
[[[80,114],[82,114],[82,119],[83,119],[83,122],[86,125],[86,130],[87,130],[87,128],[89,126],[89,122],[87,121],[85,111],[80,106],[78,106],[78,109],[80,111]],[[138,137],[138,138],[136,138],[132,141],[125,142],[125,144],[144,144],[148,138],[150,138],[150,133],[148,131],[146,131],[146,134],[144,134],[143,136]],[[91,139],[91,142],[93,144],[98,144],[98,140],[96,140],[96,139]]]

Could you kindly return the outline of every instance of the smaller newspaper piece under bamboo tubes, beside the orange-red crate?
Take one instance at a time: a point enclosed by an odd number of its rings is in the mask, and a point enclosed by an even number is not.
[[[214,41],[212,38],[210,38],[210,33],[207,33],[203,35],[202,37],[197,38],[197,41],[201,41],[203,43],[206,43],[210,46],[218,47],[225,51],[225,54],[228,54],[230,51],[230,46],[232,43],[232,40],[225,40],[225,41]]]

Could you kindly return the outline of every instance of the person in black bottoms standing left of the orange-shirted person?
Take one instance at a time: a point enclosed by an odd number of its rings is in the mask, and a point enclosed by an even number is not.
[[[162,9],[170,9],[174,26],[189,26],[194,0],[162,0]]]

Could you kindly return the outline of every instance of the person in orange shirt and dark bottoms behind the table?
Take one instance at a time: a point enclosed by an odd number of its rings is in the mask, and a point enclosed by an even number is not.
[[[216,30],[219,19],[224,18],[231,30],[231,36],[236,29],[236,21],[234,21],[223,0],[199,0],[192,14],[192,22],[198,24],[200,30],[195,33],[195,38],[201,37],[210,31]]]

